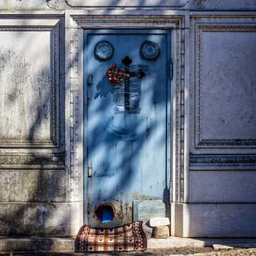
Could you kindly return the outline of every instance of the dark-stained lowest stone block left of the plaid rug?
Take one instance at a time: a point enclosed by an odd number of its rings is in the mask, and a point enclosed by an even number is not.
[[[1,203],[0,236],[76,236],[76,203]]]

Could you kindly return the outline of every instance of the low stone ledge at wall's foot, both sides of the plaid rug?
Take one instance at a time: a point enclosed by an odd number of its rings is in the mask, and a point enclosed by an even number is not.
[[[0,252],[74,252],[76,237],[0,237]],[[256,248],[256,239],[193,239],[168,237],[148,239],[149,250],[212,246],[222,244],[236,248]]]

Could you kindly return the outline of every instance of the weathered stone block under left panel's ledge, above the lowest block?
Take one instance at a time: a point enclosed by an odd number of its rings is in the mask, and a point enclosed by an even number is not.
[[[0,170],[0,202],[63,202],[65,170]]]

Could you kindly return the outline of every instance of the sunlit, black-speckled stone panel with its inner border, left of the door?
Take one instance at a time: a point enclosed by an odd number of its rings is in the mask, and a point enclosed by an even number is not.
[[[56,147],[58,28],[0,27],[0,147]]]

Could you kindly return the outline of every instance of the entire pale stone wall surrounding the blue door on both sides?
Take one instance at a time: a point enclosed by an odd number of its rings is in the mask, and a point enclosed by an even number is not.
[[[90,15],[97,27],[136,15],[129,26],[176,29],[172,234],[256,236],[255,1],[0,0],[0,10],[0,236],[75,236],[83,224]]]

